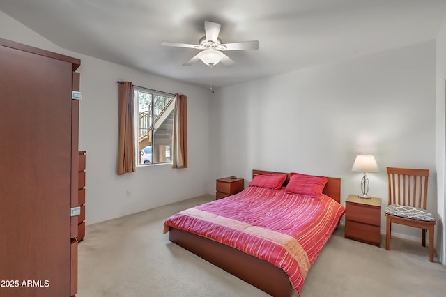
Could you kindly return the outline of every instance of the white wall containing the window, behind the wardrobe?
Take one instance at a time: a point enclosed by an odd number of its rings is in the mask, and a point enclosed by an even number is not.
[[[171,79],[142,73],[64,50],[0,11],[0,38],[81,59],[79,150],[86,151],[86,223],[143,211],[207,192],[209,92]],[[189,168],[137,167],[116,174],[118,155],[118,80],[187,95]],[[125,193],[130,190],[131,197]]]

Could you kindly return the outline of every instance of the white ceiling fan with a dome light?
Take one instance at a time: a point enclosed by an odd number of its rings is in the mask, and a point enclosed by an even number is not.
[[[169,47],[188,47],[192,49],[202,50],[196,56],[192,57],[189,61],[183,64],[183,66],[190,66],[193,63],[201,60],[206,65],[212,67],[217,63],[222,62],[224,66],[233,65],[229,56],[223,54],[222,51],[226,50],[259,50],[259,40],[242,41],[240,43],[222,43],[222,40],[218,38],[221,25],[215,22],[204,22],[205,36],[200,38],[199,45],[190,45],[187,43],[170,43],[163,41],[161,45]]]

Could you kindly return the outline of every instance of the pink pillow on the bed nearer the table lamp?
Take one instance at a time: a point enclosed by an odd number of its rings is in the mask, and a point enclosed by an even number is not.
[[[290,181],[286,185],[287,192],[320,198],[328,178],[291,172]]]

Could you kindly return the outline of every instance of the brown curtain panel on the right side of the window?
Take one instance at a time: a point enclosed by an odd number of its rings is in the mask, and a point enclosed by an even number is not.
[[[175,96],[174,168],[187,168],[187,96]]]

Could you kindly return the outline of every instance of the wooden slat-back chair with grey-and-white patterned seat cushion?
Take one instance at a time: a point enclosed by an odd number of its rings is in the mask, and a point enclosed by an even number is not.
[[[385,208],[387,229],[385,249],[389,250],[392,223],[422,229],[422,245],[426,246],[429,230],[429,260],[433,262],[433,227],[435,217],[426,211],[429,169],[387,167],[389,201]]]

